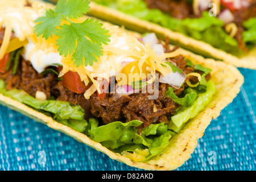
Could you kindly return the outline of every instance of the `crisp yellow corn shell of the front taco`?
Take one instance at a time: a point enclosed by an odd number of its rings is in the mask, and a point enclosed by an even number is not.
[[[38,7],[40,1],[30,1],[33,7]],[[48,4],[47,4],[48,5]],[[53,7],[51,4],[47,7]],[[137,32],[129,32],[134,36],[139,36]],[[174,48],[174,46],[171,46]],[[243,84],[243,76],[237,68],[226,64],[223,61],[216,61],[213,59],[205,59],[202,56],[195,55],[192,52],[186,51],[182,48],[177,49],[181,55],[187,57],[195,64],[201,64],[204,67],[212,69],[212,80],[216,86],[216,94],[212,101],[203,111],[201,111],[195,118],[187,122],[183,130],[170,139],[170,144],[163,150],[162,154],[155,156],[147,162],[133,162],[129,158],[121,156],[120,154],[110,151],[108,148],[102,146],[100,143],[91,140],[86,135],[79,133],[53,120],[38,111],[31,109],[18,101],[0,94],[0,103],[8,106],[11,109],[19,111],[20,113],[35,119],[35,121],[44,123],[52,129],[61,131],[79,142],[82,142],[98,151],[104,152],[111,159],[118,160],[131,167],[137,167],[146,170],[174,170],[184,164],[186,160],[191,158],[191,154],[197,146],[197,140],[204,135],[204,131],[210,124],[212,119],[218,117],[224,107],[226,107],[240,92],[240,87]]]

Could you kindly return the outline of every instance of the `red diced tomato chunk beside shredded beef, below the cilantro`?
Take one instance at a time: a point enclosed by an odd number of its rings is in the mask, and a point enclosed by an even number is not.
[[[62,67],[58,67],[57,69],[60,72]],[[92,85],[88,84],[85,86],[84,82],[81,81],[79,74],[72,71],[65,73],[62,78],[64,86],[75,93],[85,93],[85,91]]]

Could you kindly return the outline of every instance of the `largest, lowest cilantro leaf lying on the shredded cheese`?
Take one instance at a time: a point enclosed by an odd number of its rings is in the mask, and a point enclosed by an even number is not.
[[[109,35],[102,24],[93,19],[86,19],[82,23],[64,24],[57,30],[56,46],[60,55],[72,55],[72,61],[80,65],[92,65],[97,62],[96,57],[102,56],[102,43],[107,44]],[[68,44],[67,44],[68,43]]]

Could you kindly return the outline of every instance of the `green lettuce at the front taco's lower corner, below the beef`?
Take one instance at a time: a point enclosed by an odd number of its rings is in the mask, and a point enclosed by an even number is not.
[[[89,119],[88,126],[92,126],[95,123],[97,123],[95,120],[90,121]],[[137,127],[142,123],[138,120],[127,123],[118,121],[109,123],[108,125],[94,127],[93,133],[89,137],[120,154],[123,151],[136,152],[137,150],[148,148],[149,155],[146,156],[147,160],[160,154],[168,145],[172,135],[165,123],[151,124],[142,130],[142,135],[139,135]]]

